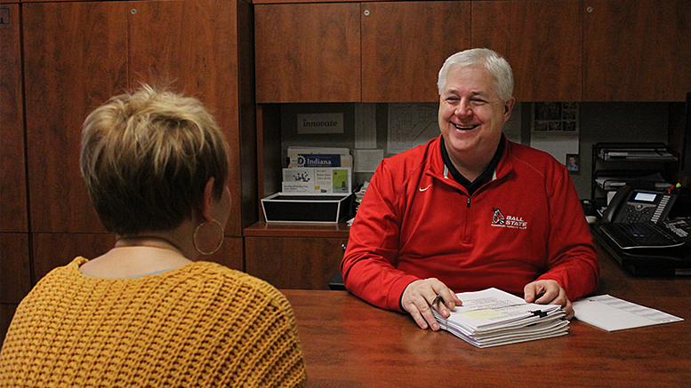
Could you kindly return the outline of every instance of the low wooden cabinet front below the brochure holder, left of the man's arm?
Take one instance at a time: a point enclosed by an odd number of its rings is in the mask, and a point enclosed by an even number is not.
[[[329,289],[348,239],[245,237],[245,271],[278,289]]]

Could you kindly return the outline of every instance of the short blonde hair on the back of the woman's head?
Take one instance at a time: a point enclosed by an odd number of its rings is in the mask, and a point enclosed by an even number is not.
[[[170,230],[191,218],[209,178],[220,198],[228,153],[199,100],[144,85],[86,118],[81,170],[106,229],[132,235]]]

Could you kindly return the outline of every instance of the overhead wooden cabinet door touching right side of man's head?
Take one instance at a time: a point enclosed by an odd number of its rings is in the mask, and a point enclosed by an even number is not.
[[[580,101],[581,1],[472,2],[472,45],[505,57],[521,101]]]

